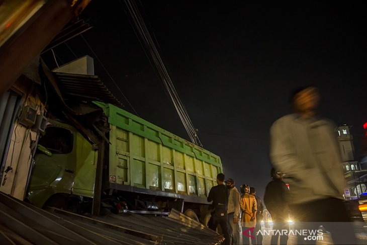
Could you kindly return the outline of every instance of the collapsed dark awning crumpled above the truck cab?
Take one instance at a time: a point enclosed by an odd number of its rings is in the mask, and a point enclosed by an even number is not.
[[[91,144],[99,145],[105,138],[107,121],[101,108],[93,101],[102,101],[117,106],[122,104],[96,75],[80,75],[52,72],[41,59],[40,72],[45,75],[45,90],[48,87],[48,104],[51,113],[63,114]],[[108,141],[108,140],[107,140]]]

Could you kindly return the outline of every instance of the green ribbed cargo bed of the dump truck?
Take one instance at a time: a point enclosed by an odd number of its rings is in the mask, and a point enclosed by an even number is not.
[[[96,104],[110,123],[110,185],[208,196],[222,173],[219,156],[114,105]]]

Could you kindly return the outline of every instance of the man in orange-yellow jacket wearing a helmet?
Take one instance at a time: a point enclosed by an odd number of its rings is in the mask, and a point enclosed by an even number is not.
[[[248,185],[241,186],[241,200],[240,207],[242,210],[242,242],[243,244],[250,244],[250,237],[252,241],[255,241],[254,229],[256,226],[256,199],[250,195],[250,187]]]

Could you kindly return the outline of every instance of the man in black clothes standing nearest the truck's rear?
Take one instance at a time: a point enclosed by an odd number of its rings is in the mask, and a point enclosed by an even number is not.
[[[220,224],[223,236],[225,238],[225,245],[231,244],[231,236],[228,230],[228,215],[227,215],[227,203],[228,203],[228,189],[224,185],[225,176],[220,173],[217,175],[217,186],[213,186],[210,189],[208,195],[208,202],[213,203],[210,205],[212,209],[212,217],[209,221],[209,228],[216,230],[218,224]]]

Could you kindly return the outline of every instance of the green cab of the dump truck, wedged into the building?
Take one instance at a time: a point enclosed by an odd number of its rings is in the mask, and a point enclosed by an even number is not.
[[[74,127],[50,120],[38,142],[28,199],[38,207],[92,198],[98,151]]]

